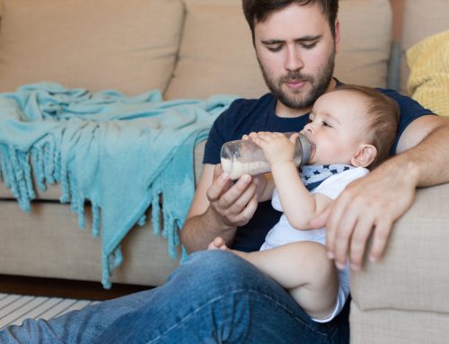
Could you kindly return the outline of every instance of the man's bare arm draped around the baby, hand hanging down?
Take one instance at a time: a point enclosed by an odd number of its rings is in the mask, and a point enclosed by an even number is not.
[[[417,187],[449,181],[449,121],[423,116],[405,129],[397,155],[344,190],[313,227],[326,225],[326,246],[339,268],[360,269],[368,237],[368,258],[379,260],[392,225],[411,206]]]

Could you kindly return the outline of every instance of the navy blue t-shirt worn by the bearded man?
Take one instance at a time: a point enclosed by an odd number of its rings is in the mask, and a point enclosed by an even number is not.
[[[405,128],[415,119],[431,114],[417,101],[401,95],[394,90],[377,89],[398,102],[400,122],[398,134],[392,147],[395,151],[399,138]],[[307,124],[309,114],[297,118],[280,118],[275,114],[276,98],[267,93],[257,100],[238,99],[233,101],[214,122],[207,138],[203,163],[220,163],[220,150],[227,141],[241,139],[251,131],[300,131]],[[259,251],[269,229],[273,227],[281,212],[271,207],[271,202],[260,202],[256,213],[247,225],[237,228],[232,248],[239,251]]]

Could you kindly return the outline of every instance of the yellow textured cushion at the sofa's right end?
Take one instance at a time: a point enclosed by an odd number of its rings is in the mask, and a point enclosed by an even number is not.
[[[436,114],[449,117],[449,30],[407,50],[410,96]]]

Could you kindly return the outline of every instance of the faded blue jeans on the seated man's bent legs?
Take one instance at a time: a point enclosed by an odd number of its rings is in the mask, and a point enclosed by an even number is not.
[[[348,304],[313,322],[271,278],[220,250],[201,251],[167,283],[0,332],[0,343],[348,343]]]

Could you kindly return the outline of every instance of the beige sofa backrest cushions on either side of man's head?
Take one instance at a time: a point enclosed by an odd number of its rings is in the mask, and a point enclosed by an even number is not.
[[[2,1],[0,92],[43,80],[167,99],[267,92],[241,0]],[[340,0],[339,18],[335,75],[385,86],[389,1]]]

